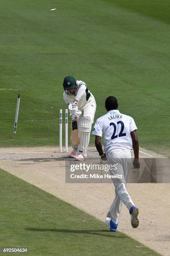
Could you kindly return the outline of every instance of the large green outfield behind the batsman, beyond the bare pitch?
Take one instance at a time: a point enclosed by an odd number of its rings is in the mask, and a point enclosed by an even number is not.
[[[169,154],[169,9],[169,0],[1,0],[0,146],[59,144],[62,81],[71,74],[94,94],[95,120],[114,95],[140,145]]]

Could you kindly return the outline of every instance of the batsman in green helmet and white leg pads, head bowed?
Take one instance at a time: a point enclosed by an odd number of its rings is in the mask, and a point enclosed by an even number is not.
[[[76,161],[84,161],[87,157],[87,147],[95,116],[95,98],[88,90],[85,82],[75,80],[72,76],[65,77],[63,87],[63,99],[69,105],[72,121],[77,121],[80,141],[78,145],[72,143],[71,157],[75,158]]]

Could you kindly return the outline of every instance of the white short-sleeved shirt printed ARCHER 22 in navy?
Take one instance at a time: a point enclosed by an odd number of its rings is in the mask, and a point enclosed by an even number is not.
[[[112,149],[132,150],[130,133],[138,129],[129,115],[119,110],[110,110],[97,119],[92,134],[102,137],[104,134],[104,151],[108,154]]]

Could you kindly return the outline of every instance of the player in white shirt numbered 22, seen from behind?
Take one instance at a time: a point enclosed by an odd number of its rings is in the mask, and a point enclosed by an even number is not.
[[[137,228],[139,225],[139,209],[134,205],[126,184],[131,165],[131,150],[133,148],[135,159],[133,166],[140,168],[139,162],[139,143],[136,134],[135,121],[132,117],[119,112],[117,99],[113,96],[105,100],[107,114],[97,119],[92,134],[95,135],[95,146],[102,160],[108,161],[108,164],[115,165],[117,168],[111,168],[110,174],[122,174],[122,179],[113,179],[115,185],[115,199],[107,213],[105,223],[109,226],[110,231],[116,231],[120,218],[122,203],[126,205],[130,212],[131,225]],[[104,151],[100,139],[104,134]],[[115,177],[115,176],[112,176]]]

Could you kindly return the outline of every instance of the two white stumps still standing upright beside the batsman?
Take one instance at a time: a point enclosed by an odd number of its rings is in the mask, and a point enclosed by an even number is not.
[[[68,152],[68,110],[65,109],[65,151]],[[62,152],[62,109],[60,109],[60,152]]]

